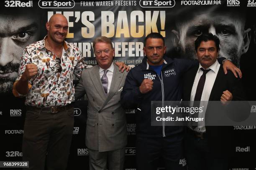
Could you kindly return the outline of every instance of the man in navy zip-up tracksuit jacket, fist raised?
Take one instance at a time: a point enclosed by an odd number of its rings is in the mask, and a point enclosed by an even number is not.
[[[137,168],[155,170],[162,158],[167,170],[185,170],[184,127],[151,126],[151,101],[180,101],[182,75],[197,61],[163,57],[164,38],[156,32],[146,37],[143,50],[146,56],[130,70],[121,93],[122,106],[136,108]]]

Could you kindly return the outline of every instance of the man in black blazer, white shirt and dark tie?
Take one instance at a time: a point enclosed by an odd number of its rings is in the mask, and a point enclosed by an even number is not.
[[[225,75],[217,61],[219,45],[220,40],[212,33],[202,34],[195,41],[200,63],[184,75],[184,101],[221,101],[225,104],[230,100],[244,100],[238,78],[231,72]],[[228,170],[233,130],[231,126],[207,126],[209,114],[218,116],[211,104],[207,104],[206,112],[198,115],[206,122],[188,128],[185,146],[189,170]]]

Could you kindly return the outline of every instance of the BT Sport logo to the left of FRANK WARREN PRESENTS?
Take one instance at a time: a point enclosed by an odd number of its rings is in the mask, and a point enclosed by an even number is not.
[[[38,6],[41,8],[72,8],[74,0],[39,0]]]

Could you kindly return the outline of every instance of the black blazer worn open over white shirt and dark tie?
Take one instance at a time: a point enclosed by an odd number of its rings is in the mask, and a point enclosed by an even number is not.
[[[190,100],[191,90],[198,68],[199,64],[192,67],[184,74],[183,101]],[[232,93],[233,100],[245,100],[243,90],[241,89],[242,85],[240,80],[236,78],[229,70],[228,74],[225,75],[223,67],[220,65],[220,69],[212,87],[209,101],[220,101],[220,97],[225,90],[229,90]],[[208,105],[206,114],[210,110],[209,107],[210,106]],[[233,126],[206,126],[205,128],[211,153],[220,156],[232,154],[232,150],[234,149],[234,146],[231,145],[234,137]]]

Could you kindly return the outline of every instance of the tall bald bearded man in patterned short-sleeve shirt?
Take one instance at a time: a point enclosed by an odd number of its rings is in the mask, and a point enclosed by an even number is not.
[[[64,41],[64,15],[53,15],[46,29],[44,40],[24,49],[13,94],[26,96],[22,150],[29,169],[65,170],[74,125],[73,74],[80,77],[86,65],[78,47]]]

